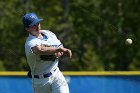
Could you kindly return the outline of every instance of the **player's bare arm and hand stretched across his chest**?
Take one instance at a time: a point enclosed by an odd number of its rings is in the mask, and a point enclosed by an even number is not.
[[[67,54],[69,58],[72,57],[71,50],[64,47],[55,48],[46,46],[34,46],[32,47],[32,51],[38,55],[55,55],[55,53],[63,52],[64,54]]]

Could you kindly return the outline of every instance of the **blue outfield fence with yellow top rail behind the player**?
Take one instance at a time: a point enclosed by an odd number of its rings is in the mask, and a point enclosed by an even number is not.
[[[70,93],[139,93],[140,72],[63,72]],[[0,93],[34,93],[26,72],[0,72]]]

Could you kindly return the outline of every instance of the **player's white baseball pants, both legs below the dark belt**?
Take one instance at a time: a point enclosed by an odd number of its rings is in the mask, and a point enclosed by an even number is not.
[[[48,78],[33,78],[33,88],[35,93],[69,93],[68,84],[59,68]]]

